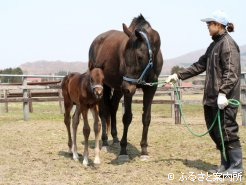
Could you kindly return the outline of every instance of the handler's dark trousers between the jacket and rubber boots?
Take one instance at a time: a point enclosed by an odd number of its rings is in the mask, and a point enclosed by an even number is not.
[[[212,125],[218,110],[218,107],[204,105],[204,116],[207,128],[210,128]],[[237,107],[232,106],[227,106],[224,110],[220,110],[221,128],[226,149],[241,147],[238,136],[238,124],[236,122],[237,110]],[[216,120],[209,135],[215,142],[217,149],[222,150],[218,120]]]

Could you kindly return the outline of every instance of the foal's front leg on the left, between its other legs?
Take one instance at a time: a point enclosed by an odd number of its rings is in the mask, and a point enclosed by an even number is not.
[[[83,160],[83,165],[87,166],[89,164],[89,150],[88,150],[88,140],[90,136],[90,125],[88,122],[88,109],[87,107],[81,108],[83,120],[84,120],[84,126],[83,126],[83,134],[85,138],[85,146],[84,146],[84,160]]]

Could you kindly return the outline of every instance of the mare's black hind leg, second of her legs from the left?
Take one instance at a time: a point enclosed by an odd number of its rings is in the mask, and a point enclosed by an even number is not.
[[[111,135],[113,137],[113,144],[119,143],[118,134],[117,134],[116,114],[122,95],[123,94],[121,91],[115,90],[113,93],[113,97],[111,98],[110,115],[111,115]]]

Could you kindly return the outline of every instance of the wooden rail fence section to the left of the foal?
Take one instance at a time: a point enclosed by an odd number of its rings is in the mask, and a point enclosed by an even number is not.
[[[29,119],[29,112],[33,111],[32,102],[46,102],[46,101],[59,101],[60,111],[62,111],[63,97],[59,83],[61,80],[52,82],[37,82],[28,83],[27,78],[49,78],[61,79],[63,76],[50,76],[50,75],[6,75],[0,74],[4,77],[21,77],[22,84],[5,85],[1,84],[0,90],[2,91],[2,98],[0,103],[5,104],[5,111],[8,112],[9,102],[22,102],[23,103],[23,118],[25,121]],[[56,92],[50,91],[56,89]],[[47,92],[34,92],[37,90],[46,90]],[[49,90],[49,91],[48,91]],[[17,91],[17,93],[9,93],[10,91]],[[53,95],[58,96],[53,96]],[[35,97],[36,96],[36,97]],[[38,96],[38,97],[37,97]],[[40,97],[41,96],[41,97]]]

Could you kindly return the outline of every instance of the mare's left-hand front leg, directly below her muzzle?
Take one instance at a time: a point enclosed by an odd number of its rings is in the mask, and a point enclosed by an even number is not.
[[[127,154],[127,133],[128,133],[128,128],[129,125],[132,121],[132,96],[124,96],[124,106],[125,106],[125,112],[123,115],[123,125],[124,125],[124,130],[123,130],[123,135],[120,141],[120,155],[119,155],[119,160],[129,160],[128,154]]]

